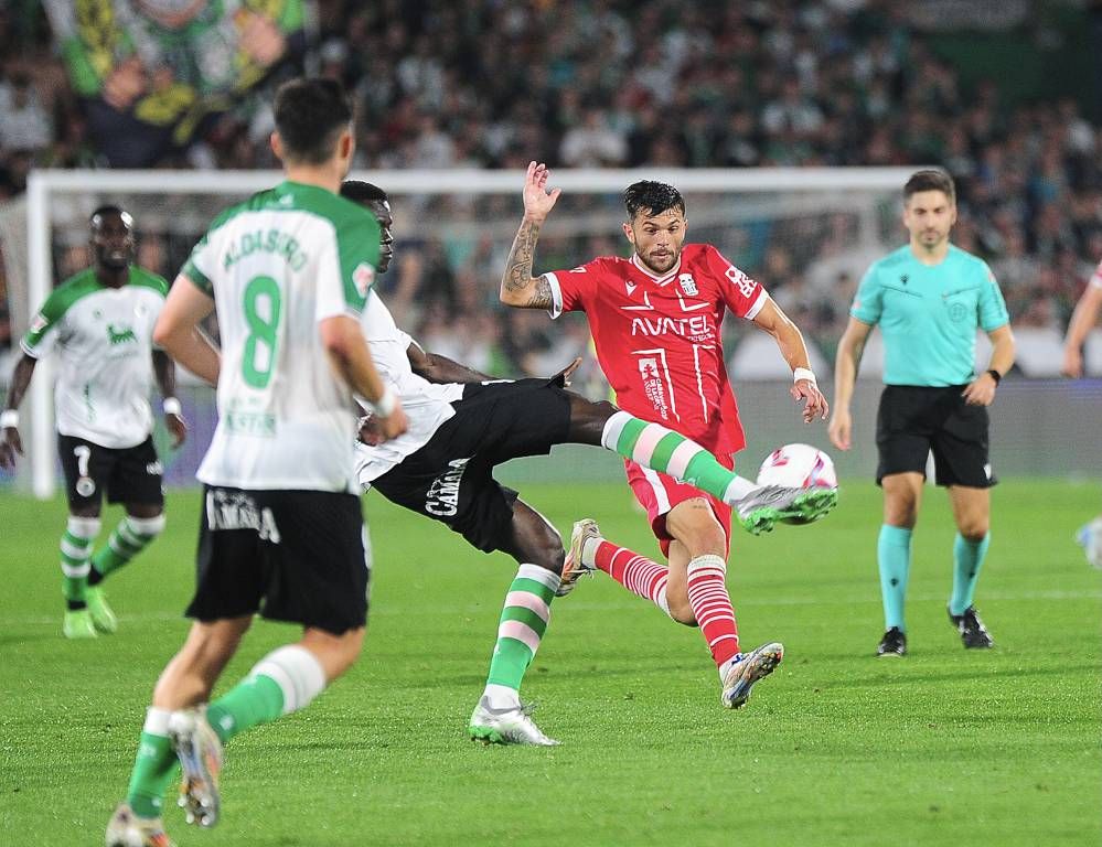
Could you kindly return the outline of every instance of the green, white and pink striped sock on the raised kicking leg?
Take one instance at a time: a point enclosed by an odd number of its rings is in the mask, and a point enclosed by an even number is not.
[[[644,468],[695,485],[725,503],[741,500],[758,487],[724,468],[716,457],[692,439],[627,411],[617,411],[606,421],[601,444]]]

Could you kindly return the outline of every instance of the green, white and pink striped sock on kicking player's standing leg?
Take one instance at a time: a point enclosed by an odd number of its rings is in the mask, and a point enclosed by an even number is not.
[[[550,620],[559,575],[538,565],[521,565],[505,596],[497,642],[490,660],[484,696],[494,708],[520,703],[521,680],[539,648]]]

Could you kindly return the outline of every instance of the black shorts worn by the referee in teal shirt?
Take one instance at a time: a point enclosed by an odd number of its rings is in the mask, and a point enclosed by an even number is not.
[[[987,407],[965,403],[965,387],[885,386],[876,415],[878,485],[894,473],[924,476],[930,452],[939,485],[989,489],[998,481],[988,454]]]

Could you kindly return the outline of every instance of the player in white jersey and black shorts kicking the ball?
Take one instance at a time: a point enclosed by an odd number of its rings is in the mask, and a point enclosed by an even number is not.
[[[385,272],[394,253],[394,221],[386,192],[349,181],[341,194],[378,221],[378,272]],[[730,496],[752,505],[757,491],[745,494],[745,480],[666,427],[565,390],[580,360],[552,379],[493,379],[424,351],[395,325],[377,296],[368,300],[362,325],[379,374],[409,416],[409,430],[383,443],[373,420],[366,419],[363,443],[357,447],[360,483],[376,489],[392,503],[446,524],[472,547],[484,553],[501,550],[517,564],[469,735],[486,742],[558,743],[528,716],[520,689],[550,621],[565,550],[550,523],[493,479],[494,467],[574,442],[603,446],[644,465],[693,479],[719,498],[732,491]],[[762,528],[771,524],[774,512],[773,506],[759,502],[748,511],[747,521]]]

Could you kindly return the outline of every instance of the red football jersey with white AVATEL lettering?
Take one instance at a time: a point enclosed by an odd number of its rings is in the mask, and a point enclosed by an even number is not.
[[[720,324],[728,309],[752,319],[766,290],[710,244],[686,244],[659,276],[632,254],[544,275],[552,317],[584,311],[616,401],[715,453],[746,447],[727,379]]]

